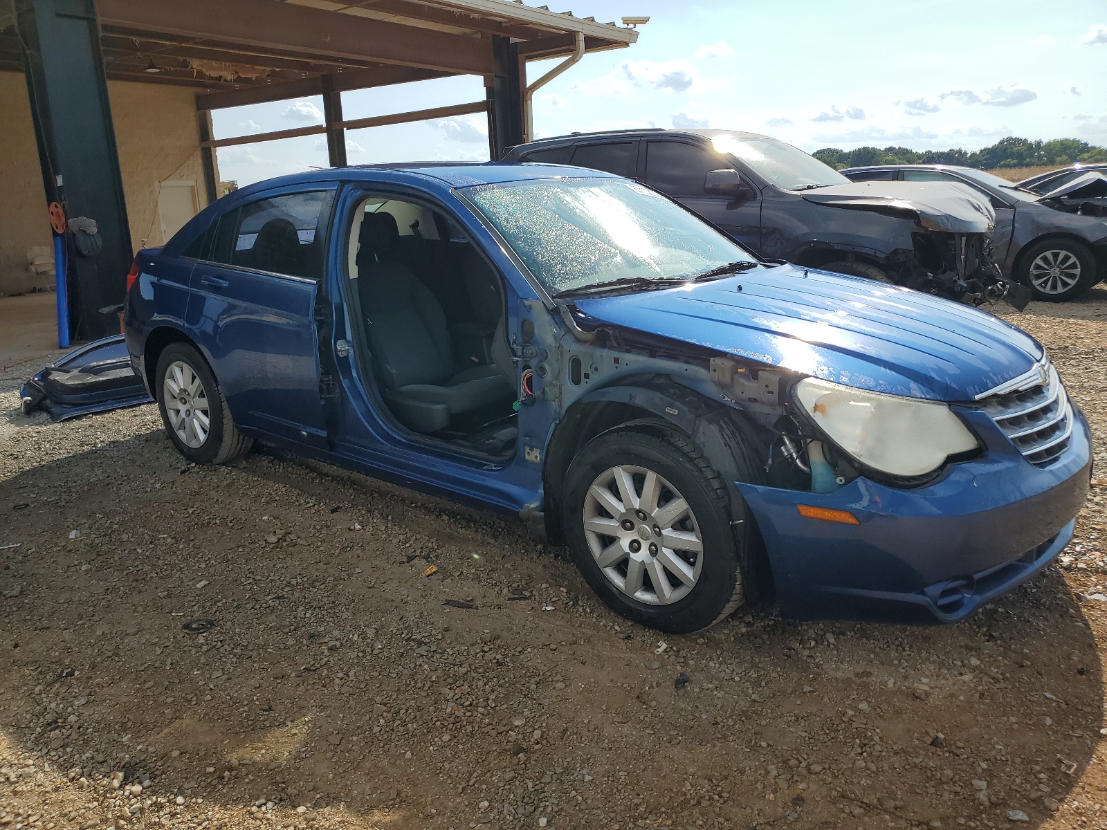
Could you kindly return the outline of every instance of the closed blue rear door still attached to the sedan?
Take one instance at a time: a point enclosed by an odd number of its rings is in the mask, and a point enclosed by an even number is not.
[[[325,447],[317,310],[334,186],[284,188],[219,218],[189,329],[242,427]]]

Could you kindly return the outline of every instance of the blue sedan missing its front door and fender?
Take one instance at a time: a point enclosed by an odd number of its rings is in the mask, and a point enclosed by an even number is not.
[[[961,619],[1057,556],[1090,477],[1018,329],[761,260],[594,170],[263,181],[128,283],[130,360],[186,458],[257,440],[514,513],[664,631],[769,591],[798,618]]]

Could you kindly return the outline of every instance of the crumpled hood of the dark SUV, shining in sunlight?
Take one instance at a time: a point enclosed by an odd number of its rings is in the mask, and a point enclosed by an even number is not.
[[[990,234],[995,210],[966,185],[945,181],[850,181],[801,191],[807,201],[901,216],[928,230]]]

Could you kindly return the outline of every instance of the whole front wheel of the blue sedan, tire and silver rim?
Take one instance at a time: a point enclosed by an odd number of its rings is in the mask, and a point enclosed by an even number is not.
[[[565,504],[577,567],[623,616],[686,633],[743,604],[730,495],[683,435],[651,424],[598,436],[569,466]]]

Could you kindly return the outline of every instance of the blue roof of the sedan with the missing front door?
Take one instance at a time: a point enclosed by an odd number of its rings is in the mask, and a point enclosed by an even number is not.
[[[587,167],[559,164],[518,164],[505,162],[407,162],[402,164],[372,164],[355,167],[329,167],[307,170],[289,176],[265,179],[246,185],[235,191],[248,196],[260,190],[294,185],[329,181],[380,181],[393,184],[428,184],[437,181],[447,187],[503,184],[550,178],[619,178],[610,173]]]

